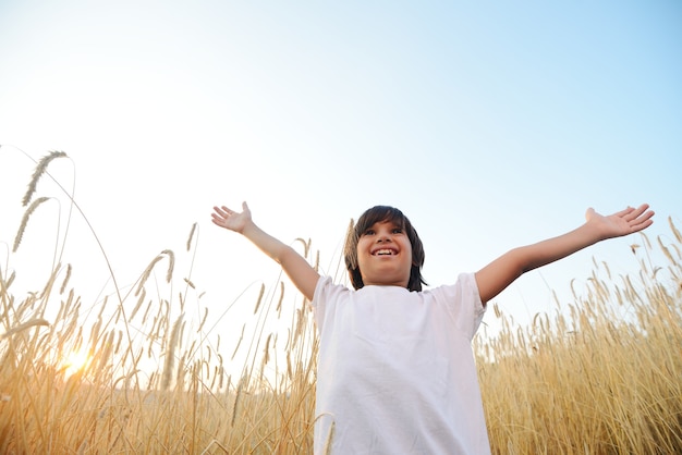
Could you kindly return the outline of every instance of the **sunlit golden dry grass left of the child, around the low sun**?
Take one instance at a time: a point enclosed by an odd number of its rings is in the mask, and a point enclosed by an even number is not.
[[[54,275],[20,304],[2,276],[0,453],[310,453],[317,346],[303,303],[289,313],[285,346],[268,333],[234,379],[218,342],[182,312],[171,322],[168,300],[131,320],[127,302],[109,317],[102,308],[86,330]],[[57,299],[54,320],[36,317]],[[265,299],[260,311],[277,317]],[[142,333],[129,340],[126,330]],[[73,352],[87,353],[75,370]]]

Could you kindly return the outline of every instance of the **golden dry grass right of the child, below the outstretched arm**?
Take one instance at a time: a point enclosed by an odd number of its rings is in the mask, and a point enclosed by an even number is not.
[[[642,260],[636,279],[612,280],[602,265],[585,296],[529,327],[512,327],[495,308],[504,329],[476,347],[499,453],[682,453],[680,245],[678,236],[673,256],[660,242],[669,263]],[[497,361],[483,361],[492,354]]]

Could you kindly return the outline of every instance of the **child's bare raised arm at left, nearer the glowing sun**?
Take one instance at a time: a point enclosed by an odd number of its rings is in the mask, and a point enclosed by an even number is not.
[[[229,208],[214,207],[212,222],[220,228],[239,232],[256,245],[263,253],[275,259],[291,279],[294,285],[308,299],[313,299],[319,274],[291,246],[283,244],[254,223],[251,210],[246,202],[242,204],[242,211],[235,212]]]

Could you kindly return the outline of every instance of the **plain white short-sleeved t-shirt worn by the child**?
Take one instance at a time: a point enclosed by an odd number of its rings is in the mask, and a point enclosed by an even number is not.
[[[473,273],[424,292],[317,283],[315,453],[489,454],[471,342]]]

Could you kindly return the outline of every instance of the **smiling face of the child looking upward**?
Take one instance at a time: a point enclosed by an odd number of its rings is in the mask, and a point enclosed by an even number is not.
[[[365,285],[407,287],[412,244],[400,225],[375,223],[357,241],[357,267]]]

